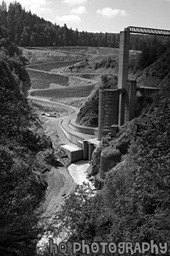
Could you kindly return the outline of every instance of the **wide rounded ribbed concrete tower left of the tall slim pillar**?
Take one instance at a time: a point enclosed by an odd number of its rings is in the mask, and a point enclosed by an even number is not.
[[[111,125],[118,124],[120,90],[99,90],[99,125],[98,139],[111,132]]]

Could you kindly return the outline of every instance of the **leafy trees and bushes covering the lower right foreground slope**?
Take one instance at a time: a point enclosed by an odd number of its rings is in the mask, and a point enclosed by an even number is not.
[[[67,199],[58,217],[62,229],[69,229],[69,242],[150,243],[154,239],[156,244],[169,245],[169,96],[169,92],[160,94],[155,107],[144,115],[139,139],[133,143],[136,150],[127,155],[124,165],[108,173],[103,191],[89,197],[89,191],[80,187]],[[56,236],[60,231],[56,228]]]

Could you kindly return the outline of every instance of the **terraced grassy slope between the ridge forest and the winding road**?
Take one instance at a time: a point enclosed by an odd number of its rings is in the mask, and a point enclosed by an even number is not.
[[[68,72],[70,78],[68,76],[60,76],[60,74],[49,74],[45,72],[37,72],[36,70],[27,69],[27,72],[31,76],[31,86],[33,89],[49,89],[43,91],[35,91],[32,95],[38,95],[42,97],[49,97],[53,100],[59,99],[62,100],[66,98],[66,103],[73,104],[77,101],[81,102],[83,98],[86,98],[90,95],[94,85],[92,85],[92,80],[87,80],[90,78],[94,78],[93,75],[88,76],[90,72],[96,72],[97,76],[101,75],[101,69],[103,72],[106,71],[105,65],[107,65],[108,55],[112,54],[112,61],[118,64],[118,49],[111,48],[99,48],[99,47],[86,47],[81,49],[81,47],[63,47],[62,49],[56,50],[27,50],[24,49],[24,55],[29,61],[34,61],[34,63],[38,63],[41,61],[48,61],[49,59],[55,60],[58,58],[63,58],[63,62],[52,62],[52,63],[39,63],[30,65],[29,68],[33,69],[45,69],[51,70],[54,72]],[[62,52],[61,52],[62,51]],[[65,51],[65,52],[64,52]],[[70,52],[71,54],[68,54]],[[87,58],[85,61],[80,62],[80,57],[87,54]],[[79,54],[79,55],[78,55]],[[95,55],[94,55],[95,54]],[[103,55],[105,54],[105,55]],[[100,56],[99,56],[100,55]],[[101,57],[102,55],[102,57]],[[79,59],[78,59],[79,56]],[[65,61],[64,58],[72,58],[71,61]],[[103,61],[101,61],[101,59]],[[76,64],[78,62],[78,64]],[[95,63],[97,63],[97,68],[95,68]],[[66,68],[60,68],[63,65],[66,65]],[[100,68],[98,69],[98,66]],[[114,65],[113,67],[107,69],[108,72],[118,72],[118,65]],[[72,68],[72,70],[70,69]],[[55,69],[56,68],[56,69]],[[98,69],[98,70],[97,70]],[[80,78],[75,78],[76,75],[81,74],[81,72],[87,72],[84,74],[85,80],[81,80]],[[99,80],[99,79],[97,79]],[[61,87],[63,86],[63,88]],[[68,88],[69,86],[69,88]],[[67,87],[67,88],[66,88]],[[68,101],[67,98],[74,98],[74,102]],[[95,110],[96,111],[96,110]]]

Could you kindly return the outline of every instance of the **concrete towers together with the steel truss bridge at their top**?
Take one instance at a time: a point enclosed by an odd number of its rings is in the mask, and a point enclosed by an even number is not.
[[[111,132],[111,125],[123,125],[135,117],[136,81],[128,81],[128,55],[130,33],[170,36],[170,31],[157,28],[128,27],[120,32],[118,90],[99,92],[99,134],[100,140]],[[156,88],[140,88],[143,94],[151,94]]]

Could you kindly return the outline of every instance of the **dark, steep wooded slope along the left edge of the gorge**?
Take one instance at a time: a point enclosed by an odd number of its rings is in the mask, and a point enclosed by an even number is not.
[[[0,29],[0,255],[34,255],[52,145],[27,104],[24,58]]]

